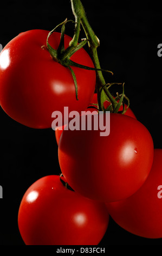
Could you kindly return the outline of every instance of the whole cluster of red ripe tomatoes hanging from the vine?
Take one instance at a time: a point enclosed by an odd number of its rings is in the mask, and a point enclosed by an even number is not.
[[[51,113],[68,107],[88,116],[103,116],[94,108],[94,70],[67,66],[51,57],[46,46],[48,31],[19,34],[0,54],[0,103],[18,123],[35,129],[51,127]],[[64,36],[64,46],[72,40]],[[58,48],[60,33],[49,43]],[[72,56],[79,64],[94,67],[80,48]],[[35,74],[33,74],[33,70]],[[111,102],[105,101],[106,108]],[[122,108],[122,107],[121,107]],[[119,111],[121,110],[119,108]],[[94,113],[92,113],[94,112]],[[64,117],[63,117],[64,118]],[[93,119],[93,118],[92,118]],[[98,119],[99,121],[99,119]],[[154,149],[147,128],[130,108],[110,113],[108,136],[101,127],[55,131],[59,175],[38,179],[25,192],[18,211],[18,228],[26,245],[98,245],[108,228],[109,215],[122,228],[142,237],[162,237],[161,202],[157,188],[161,179],[161,149]]]

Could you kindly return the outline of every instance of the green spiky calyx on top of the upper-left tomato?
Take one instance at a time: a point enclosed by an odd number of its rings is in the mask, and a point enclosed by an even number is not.
[[[65,49],[64,48],[64,33],[65,33],[65,26],[67,22],[73,22],[76,24],[75,26],[75,33],[74,33],[74,37],[73,39],[69,42],[69,46]],[[54,49],[53,47],[51,47],[51,45],[49,44],[49,36],[51,34],[53,34],[57,28],[59,27],[61,28],[61,38],[60,38],[60,44],[59,47],[56,49]],[[57,25],[52,31],[49,32],[48,36],[47,36],[47,46],[42,46],[42,47],[46,47],[47,50],[49,51],[51,57],[58,63],[60,63],[61,65],[65,66],[66,68],[68,68],[73,76],[73,80],[74,80],[74,86],[75,86],[75,95],[76,95],[76,100],[78,99],[78,94],[77,94],[77,81],[76,81],[76,76],[75,73],[72,69],[72,66],[75,66],[76,68],[81,68],[81,69],[86,69],[86,70],[100,70],[103,72],[110,72],[113,75],[112,71],[109,70],[105,70],[105,69],[96,69],[96,68],[92,68],[89,66],[85,66],[85,65],[81,65],[79,63],[73,62],[73,60],[71,60],[70,58],[73,56],[73,54],[80,50],[83,46],[85,46],[87,44],[87,39],[82,39],[80,43],[78,43],[79,40],[79,32],[80,32],[80,23],[78,22],[74,22],[72,20],[64,20],[63,22],[61,22],[59,25]]]

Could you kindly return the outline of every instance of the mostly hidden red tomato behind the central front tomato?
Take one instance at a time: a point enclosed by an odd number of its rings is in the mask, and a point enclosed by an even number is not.
[[[91,103],[89,104],[89,106],[93,106],[93,107],[97,107],[97,106],[94,106],[93,104],[97,104],[98,103],[98,94],[94,93],[93,95],[93,99],[91,101]],[[105,108],[109,106],[110,102],[108,101],[105,101]],[[127,107],[127,105],[125,105]],[[119,111],[122,110],[122,106],[119,108]],[[95,111],[94,108],[87,108],[86,111]],[[133,117],[135,119],[137,119],[133,113],[133,111],[131,110],[131,108],[128,108],[125,115],[129,115],[129,117]],[[60,140],[60,136],[61,136],[61,133],[64,129],[64,126],[62,127],[58,127],[56,130],[55,130],[55,138],[56,138],[56,142],[57,142],[57,145],[59,145],[59,140]]]

